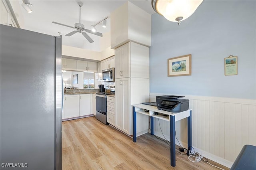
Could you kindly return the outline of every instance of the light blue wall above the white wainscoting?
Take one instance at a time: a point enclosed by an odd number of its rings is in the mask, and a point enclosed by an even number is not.
[[[256,1],[204,1],[180,26],[152,15],[150,93],[256,99]],[[192,54],[192,75],[168,77],[167,59]],[[238,75],[224,58],[238,56]]]

